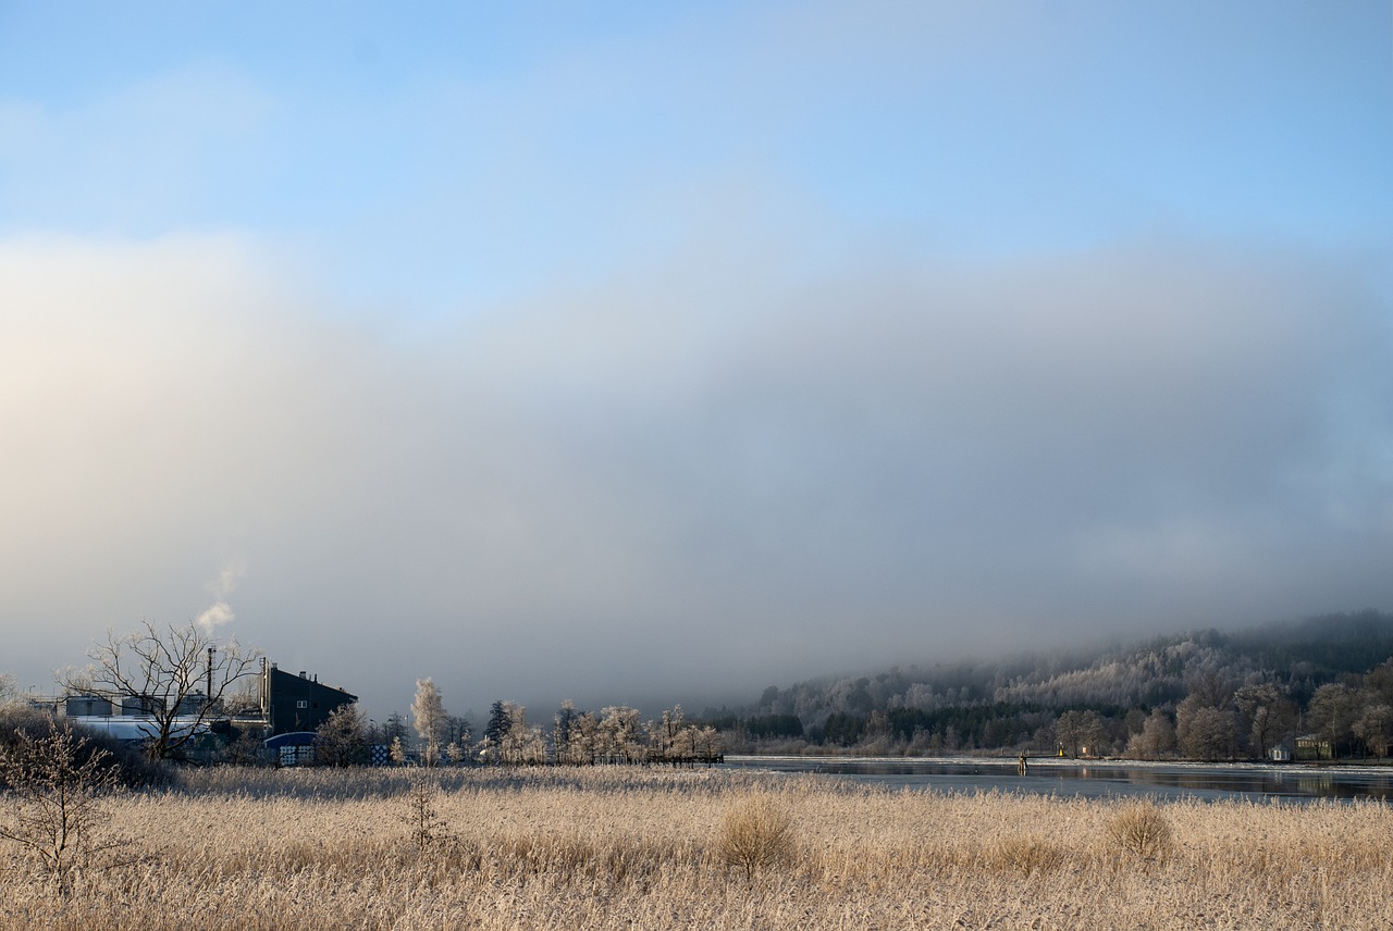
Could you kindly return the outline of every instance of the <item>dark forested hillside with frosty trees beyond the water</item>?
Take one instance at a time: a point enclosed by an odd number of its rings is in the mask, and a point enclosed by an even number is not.
[[[1286,746],[1382,757],[1393,740],[1390,657],[1393,615],[1364,611],[769,686],[706,719],[733,750],[1219,760]]]

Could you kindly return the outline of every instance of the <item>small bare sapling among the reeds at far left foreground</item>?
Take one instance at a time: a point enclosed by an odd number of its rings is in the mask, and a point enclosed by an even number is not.
[[[18,733],[0,750],[0,783],[8,817],[0,838],[20,845],[38,868],[67,889],[74,870],[107,866],[125,841],[107,831],[100,797],[116,788],[111,754],[88,746],[71,728],[49,722],[49,735]]]

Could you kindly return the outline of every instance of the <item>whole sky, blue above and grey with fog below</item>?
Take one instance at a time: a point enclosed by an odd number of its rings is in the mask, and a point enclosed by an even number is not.
[[[1393,610],[1393,11],[0,0],[0,671],[362,697]]]

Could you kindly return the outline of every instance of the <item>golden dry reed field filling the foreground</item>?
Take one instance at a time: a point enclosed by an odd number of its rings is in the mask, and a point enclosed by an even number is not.
[[[219,768],[103,804],[125,843],[65,889],[0,848],[0,928],[1393,927],[1385,803],[598,767]]]

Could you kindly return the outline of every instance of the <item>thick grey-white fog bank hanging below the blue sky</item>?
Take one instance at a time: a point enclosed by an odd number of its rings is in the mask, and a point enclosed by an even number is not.
[[[0,244],[15,650],[224,623],[235,584],[286,665],[462,710],[1393,597],[1357,270],[1167,241],[790,285],[737,250],[403,340],[235,237]]]

